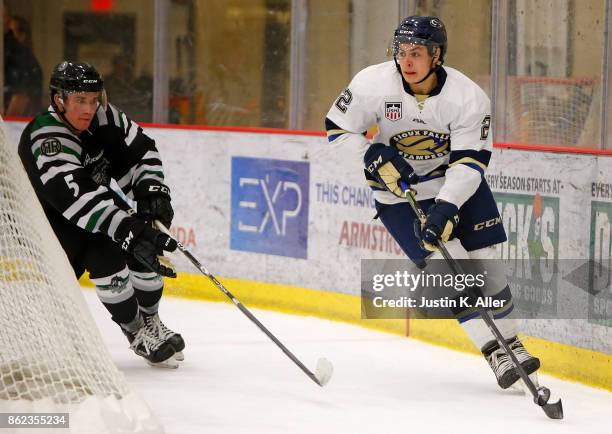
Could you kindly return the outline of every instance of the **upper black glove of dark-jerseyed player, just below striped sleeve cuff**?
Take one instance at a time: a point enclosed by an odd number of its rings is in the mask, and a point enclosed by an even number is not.
[[[174,211],[170,205],[170,189],[157,181],[141,181],[134,189],[138,217],[151,222],[159,220],[167,228],[172,223]]]

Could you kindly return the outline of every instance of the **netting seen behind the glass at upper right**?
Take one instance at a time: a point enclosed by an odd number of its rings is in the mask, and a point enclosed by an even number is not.
[[[506,140],[596,147],[598,86],[592,78],[508,77]]]

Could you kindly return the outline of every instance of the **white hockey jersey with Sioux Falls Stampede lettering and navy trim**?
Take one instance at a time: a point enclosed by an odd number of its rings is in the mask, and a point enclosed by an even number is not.
[[[371,143],[396,148],[421,177],[414,186],[419,200],[435,197],[461,207],[484,179],[491,157],[491,104],[456,69],[438,68],[436,75],[429,95],[415,95],[394,61],[363,69],[329,110],[327,136],[359,157],[362,167]],[[377,133],[369,141],[365,132],[374,125]],[[378,202],[404,200],[365,173]]]

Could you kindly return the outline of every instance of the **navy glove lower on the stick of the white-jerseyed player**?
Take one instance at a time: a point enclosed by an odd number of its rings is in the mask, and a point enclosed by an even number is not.
[[[415,233],[424,249],[438,250],[438,241],[447,242],[459,223],[459,208],[450,202],[436,202],[427,211],[427,221],[415,220]]]

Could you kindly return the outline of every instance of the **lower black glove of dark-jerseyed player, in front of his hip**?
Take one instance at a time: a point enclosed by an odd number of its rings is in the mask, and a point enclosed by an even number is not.
[[[166,277],[176,277],[176,272],[160,264],[158,255],[164,250],[173,252],[176,241],[163,232],[153,229],[146,222],[130,217],[125,219],[115,232],[115,240],[121,248],[131,254],[149,270]]]

